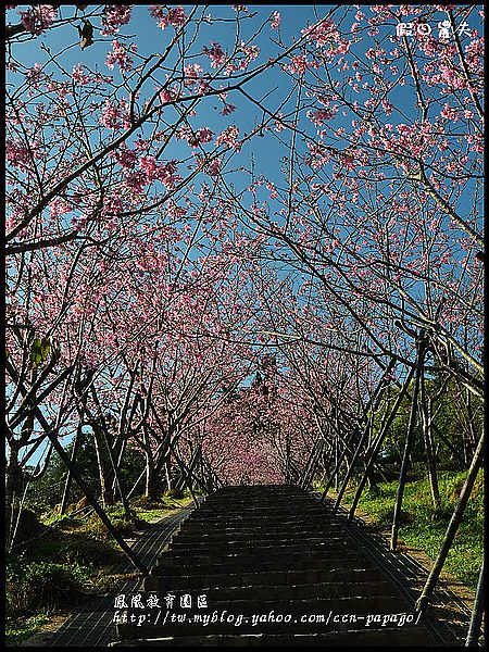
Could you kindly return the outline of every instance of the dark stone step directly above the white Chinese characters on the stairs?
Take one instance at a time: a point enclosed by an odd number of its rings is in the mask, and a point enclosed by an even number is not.
[[[308,570],[265,570],[262,573],[215,573],[203,575],[150,575],[145,577],[145,591],[190,591],[203,587],[290,586],[323,582],[380,582],[384,575],[377,568],[311,568]]]

